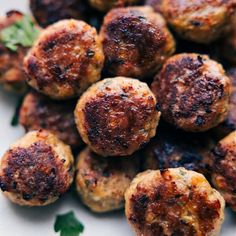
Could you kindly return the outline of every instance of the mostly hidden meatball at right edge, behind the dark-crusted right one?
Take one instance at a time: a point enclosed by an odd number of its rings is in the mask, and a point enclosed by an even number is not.
[[[217,139],[222,139],[232,131],[236,130],[236,68],[228,71],[228,76],[231,79],[232,93],[230,96],[229,112],[226,120],[213,129],[213,133]]]

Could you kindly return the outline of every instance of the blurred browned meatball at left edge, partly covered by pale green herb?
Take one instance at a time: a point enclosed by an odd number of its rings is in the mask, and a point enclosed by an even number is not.
[[[22,18],[23,15],[18,11],[10,11],[6,17],[0,17],[0,33]],[[27,48],[19,46],[17,51],[13,52],[0,42],[0,84],[6,90],[18,93],[25,92],[27,86],[22,61],[27,50]]]

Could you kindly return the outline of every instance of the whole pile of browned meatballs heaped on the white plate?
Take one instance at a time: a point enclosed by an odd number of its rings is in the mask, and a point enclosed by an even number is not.
[[[0,83],[27,91],[0,161],[12,202],[75,187],[136,235],[218,235],[236,211],[236,2],[31,0],[41,32],[0,42]],[[0,31],[21,20],[8,12]]]

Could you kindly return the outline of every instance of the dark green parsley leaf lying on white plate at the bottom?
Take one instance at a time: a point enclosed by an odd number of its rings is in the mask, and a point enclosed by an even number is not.
[[[71,211],[57,215],[54,230],[55,232],[60,231],[60,236],[79,236],[84,231],[84,226]]]

